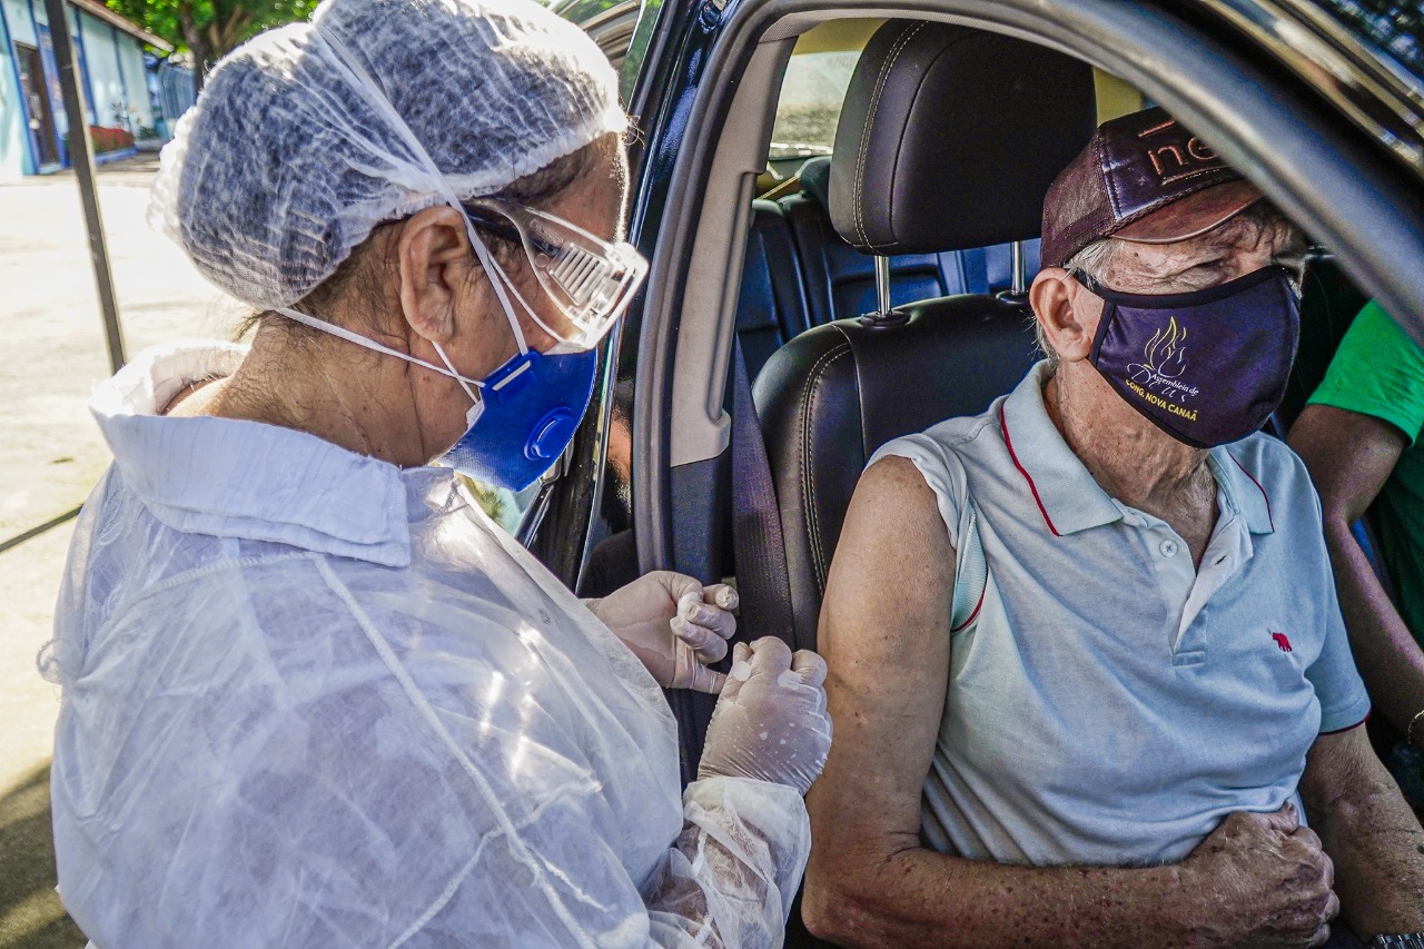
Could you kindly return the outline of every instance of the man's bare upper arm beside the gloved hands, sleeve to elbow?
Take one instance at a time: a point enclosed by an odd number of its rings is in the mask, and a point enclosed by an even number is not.
[[[812,872],[917,846],[950,661],[954,547],[914,465],[886,457],[856,486],[822,607],[836,741],[812,788]]]

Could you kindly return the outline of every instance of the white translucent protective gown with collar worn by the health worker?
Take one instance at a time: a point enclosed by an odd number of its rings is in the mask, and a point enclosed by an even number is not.
[[[150,351],[93,400],[115,465],[43,657],[93,943],[779,945],[800,797],[679,794],[654,680],[450,470],[155,415],[241,355]]]

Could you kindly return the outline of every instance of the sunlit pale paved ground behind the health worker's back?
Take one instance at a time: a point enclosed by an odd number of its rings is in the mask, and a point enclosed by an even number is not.
[[[231,335],[242,308],[145,224],[152,158],[100,174],[100,202],[130,353],[177,336]],[[108,465],[85,409],[108,375],[78,187],[71,175],[0,185],[0,544],[73,510]],[[81,946],[48,849],[58,695],[36,673],[50,637],[71,523],[0,553],[0,949]]]

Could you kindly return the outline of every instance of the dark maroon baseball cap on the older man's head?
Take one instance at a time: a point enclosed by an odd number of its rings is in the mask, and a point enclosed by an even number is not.
[[[1044,198],[1044,266],[1104,237],[1172,244],[1260,201],[1200,138],[1162,108],[1102,123]]]

